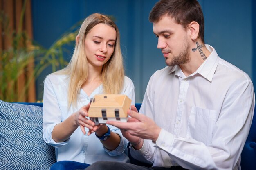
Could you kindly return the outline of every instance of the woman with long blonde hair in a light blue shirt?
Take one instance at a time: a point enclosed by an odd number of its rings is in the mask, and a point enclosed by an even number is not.
[[[124,76],[118,28],[98,13],[81,25],[67,67],[45,78],[43,137],[56,148],[57,161],[129,162],[127,140],[121,131],[115,126],[95,125],[85,117],[95,94],[126,94],[135,104],[134,85]],[[108,132],[110,137],[101,139]]]

